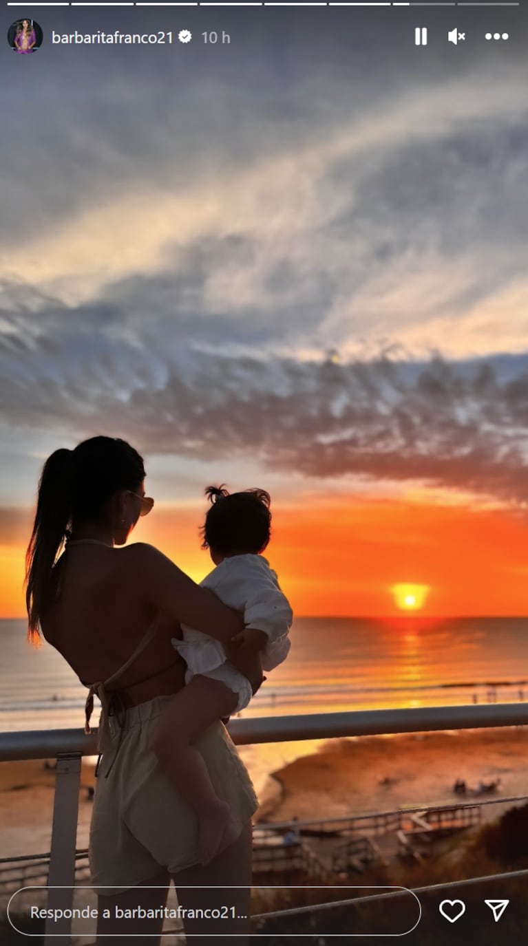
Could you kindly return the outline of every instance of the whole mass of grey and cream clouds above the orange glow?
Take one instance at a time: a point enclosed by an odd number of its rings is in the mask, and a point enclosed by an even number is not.
[[[360,40],[328,41],[313,60],[299,41],[286,93],[262,45],[221,76],[176,66],[169,107],[165,61],[131,85],[119,53],[100,75],[78,57],[67,95],[57,67],[31,94],[20,79],[5,429],[523,501],[523,63],[468,57],[446,79],[430,58],[417,84],[389,46],[354,82]]]

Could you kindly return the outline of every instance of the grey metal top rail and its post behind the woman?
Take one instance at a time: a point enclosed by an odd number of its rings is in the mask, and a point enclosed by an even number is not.
[[[413,710],[359,710],[232,720],[229,733],[237,745],[279,743],[345,736],[389,735],[440,729],[528,726],[523,703],[486,706],[424,707]],[[49,859],[48,906],[71,906],[76,863],[81,756],[97,754],[97,731],[51,729],[0,733],[0,762],[57,759]],[[68,888],[67,890],[60,888]],[[60,928],[59,928],[60,927]],[[63,946],[71,920],[45,929],[46,946]]]

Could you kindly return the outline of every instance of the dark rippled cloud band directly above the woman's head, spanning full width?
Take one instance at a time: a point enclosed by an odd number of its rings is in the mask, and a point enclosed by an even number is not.
[[[353,475],[528,499],[528,356],[315,361],[165,339],[145,353],[119,319],[115,342],[113,320],[95,334],[97,312],[76,317],[70,337],[50,313],[14,367],[8,355],[5,424],[75,439],[105,432],[202,462],[251,458],[322,482]]]

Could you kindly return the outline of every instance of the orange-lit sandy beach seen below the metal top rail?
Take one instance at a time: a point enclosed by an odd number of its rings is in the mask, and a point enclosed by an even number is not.
[[[309,749],[308,749],[309,745]],[[260,807],[255,823],[345,817],[395,810],[400,806],[450,804],[462,799],[452,792],[455,779],[468,787],[480,780],[502,779],[485,805],[485,819],[502,814],[502,797],[528,795],[528,728],[483,729],[372,736],[327,740],[307,745],[241,747],[258,789]],[[258,757],[262,749],[263,758]],[[296,751],[299,757],[262,777],[263,762],[273,750]],[[84,762],[79,793],[77,847],[88,844],[92,802],[88,789],[95,783],[93,761]],[[388,778],[388,785],[380,784]],[[53,812],[54,772],[40,760],[0,764],[0,851],[2,857],[49,850]],[[506,805],[507,807],[507,805]]]

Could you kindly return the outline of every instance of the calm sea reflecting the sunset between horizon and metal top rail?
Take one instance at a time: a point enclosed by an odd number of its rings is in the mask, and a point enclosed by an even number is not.
[[[0,621],[0,730],[81,727],[85,689],[26,622]],[[528,696],[528,618],[299,618],[243,716],[509,702]]]

